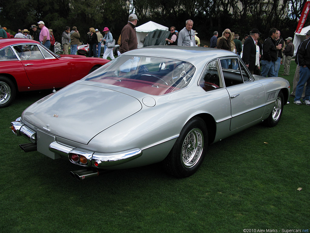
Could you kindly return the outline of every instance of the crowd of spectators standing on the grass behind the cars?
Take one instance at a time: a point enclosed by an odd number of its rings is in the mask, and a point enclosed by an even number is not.
[[[138,23],[138,18],[135,14],[128,17],[127,24],[123,27],[121,35],[117,43],[120,45],[118,55],[136,49],[138,41],[136,36],[135,27]],[[28,29],[18,30],[14,38],[33,39],[42,43],[43,46],[50,49],[52,52],[64,54],[76,54],[78,45],[80,44],[80,34],[76,26],[66,26],[62,33],[61,44],[55,42],[53,30],[48,29],[43,21],[39,21],[37,25],[31,25]],[[178,46],[197,46],[201,45],[200,39],[197,36],[197,31],[193,30],[194,23],[192,20],[185,21],[185,27],[179,32],[175,26],[170,27],[170,34],[165,39],[166,45]],[[101,33],[94,27],[89,28],[87,33],[87,45],[89,46],[89,57],[100,57],[101,46],[104,44],[103,58],[110,57],[114,59],[113,48],[115,47],[115,40],[113,35],[108,29],[104,27]],[[230,29],[225,29],[222,36],[219,37],[218,31],[213,33],[210,38],[210,48],[224,49],[237,54],[249,71],[254,75],[262,75],[265,77],[277,77],[280,65],[284,65],[283,76],[290,73],[290,62],[294,56],[294,44],[292,37],[285,40],[281,37],[278,29],[272,28],[269,31],[268,38],[263,42],[259,40],[261,33],[258,29],[253,28],[245,34],[242,40],[239,40],[239,34],[235,34]],[[7,32],[7,28],[0,25],[0,39],[13,38],[13,35]],[[294,75],[293,91],[290,96],[294,97],[294,103],[300,105],[302,103],[310,105],[310,30],[306,33],[306,39],[300,43],[295,62],[297,68]],[[205,45],[205,47],[207,47]],[[242,55],[241,55],[242,54]],[[221,60],[221,66],[224,69],[232,68],[238,69],[236,59]],[[303,98],[303,102],[300,100]]]

